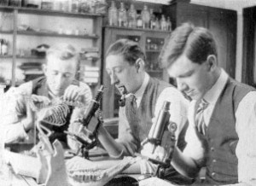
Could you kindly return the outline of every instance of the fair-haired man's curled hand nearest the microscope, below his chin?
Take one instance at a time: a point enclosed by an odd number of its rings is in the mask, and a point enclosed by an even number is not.
[[[67,102],[77,102],[82,95],[82,90],[77,85],[69,85],[64,92],[63,100]]]

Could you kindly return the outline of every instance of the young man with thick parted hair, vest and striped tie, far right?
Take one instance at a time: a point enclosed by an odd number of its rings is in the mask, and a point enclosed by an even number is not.
[[[217,46],[206,28],[183,24],[172,32],[160,59],[177,87],[191,97],[187,146],[175,149],[172,166],[206,183],[256,178],[256,92],[218,67]]]

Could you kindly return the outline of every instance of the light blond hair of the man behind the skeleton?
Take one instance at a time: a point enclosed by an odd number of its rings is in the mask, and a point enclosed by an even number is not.
[[[54,55],[55,57],[63,61],[73,58],[76,61],[79,61],[79,54],[71,44],[55,44],[47,49],[46,58],[49,55]]]

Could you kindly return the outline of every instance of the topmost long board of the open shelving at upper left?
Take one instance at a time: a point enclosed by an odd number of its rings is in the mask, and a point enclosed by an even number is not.
[[[33,14],[33,15],[53,15],[53,16],[67,16],[67,17],[81,17],[81,18],[103,16],[103,15],[90,14],[90,13],[72,13],[72,12],[63,12],[58,10],[34,9],[34,8],[26,8],[26,7],[11,7],[11,6],[1,6],[1,5],[0,5],[0,9],[6,9],[6,10],[17,9],[20,13]]]

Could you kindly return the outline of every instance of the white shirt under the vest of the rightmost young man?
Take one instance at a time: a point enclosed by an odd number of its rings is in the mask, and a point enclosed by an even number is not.
[[[209,120],[212,116],[218,97],[220,96],[224,85],[227,83],[229,76],[222,69],[217,82],[212,86],[211,90],[207,91],[204,99],[209,102],[203,116],[206,125],[209,125]],[[190,106],[193,105],[191,102]],[[230,103],[231,104],[231,103]],[[189,107],[189,113],[193,108]],[[236,146],[236,156],[238,158],[238,180],[239,182],[247,182],[256,178],[256,91],[247,93],[241,99],[241,102],[236,109],[236,132],[239,141]],[[188,142],[184,149],[184,154],[195,160],[201,155],[202,147],[195,137],[195,133],[191,130],[189,119],[189,129],[185,140]]]

